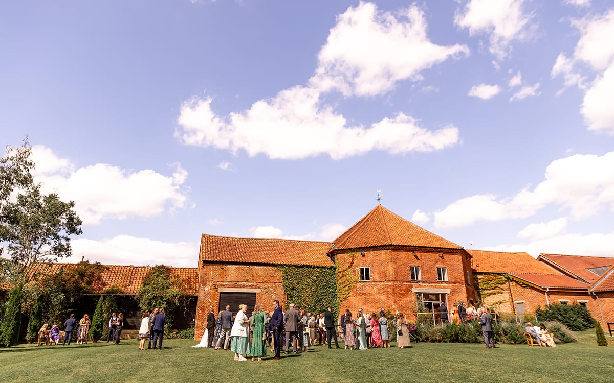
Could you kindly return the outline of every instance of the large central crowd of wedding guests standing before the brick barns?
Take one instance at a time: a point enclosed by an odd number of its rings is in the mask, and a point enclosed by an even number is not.
[[[304,308],[296,308],[292,303],[283,311],[279,301],[273,301],[273,310],[266,312],[261,303],[256,303],[251,316],[247,315],[247,305],[239,305],[233,315],[230,306],[214,314],[213,309],[207,316],[206,332],[201,343],[194,347],[214,347],[216,350],[230,350],[235,360],[260,361],[268,352],[273,359],[281,354],[300,354],[310,346],[328,346],[340,349],[336,332],[336,316],[329,307],[324,313],[311,314]],[[397,313],[393,320],[397,328],[397,346],[411,346],[410,332],[415,328],[407,322],[403,313]],[[384,308],[379,314],[363,313],[357,310],[356,317],[346,310],[340,318],[345,349],[366,350],[377,347],[391,347],[389,319]]]

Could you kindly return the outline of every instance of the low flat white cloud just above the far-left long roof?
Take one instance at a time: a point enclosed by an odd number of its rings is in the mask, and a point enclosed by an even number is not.
[[[71,241],[72,257],[66,262],[90,262],[104,265],[168,265],[196,267],[198,242],[164,242],[150,238],[118,235],[104,240],[77,238]]]

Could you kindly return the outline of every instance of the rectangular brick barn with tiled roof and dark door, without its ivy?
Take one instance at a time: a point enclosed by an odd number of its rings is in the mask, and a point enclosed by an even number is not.
[[[236,314],[238,305],[251,313],[256,301],[272,309],[274,299],[282,305],[286,293],[278,265],[327,266],[330,242],[219,237],[203,234],[198,256],[198,305],[195,339],[203,336],[209,310],[217,313],[226,305]]]

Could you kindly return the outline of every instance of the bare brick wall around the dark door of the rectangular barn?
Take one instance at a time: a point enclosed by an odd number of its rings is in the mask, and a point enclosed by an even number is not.
[[[281,271],[274,266],[263,265],[212,265],[201,266],[198,281],[198,305],[196,305],[196,324],[194,339],[199,341],[207,327],[207,315],[211,308],[217,317],[219,289],[256,289],[256,301],[263,303],[265,309],[271,308],[270,302],[279,300],[282,305],[286,294],[282,288]],[[251,315],[251,314],[250,314]]]

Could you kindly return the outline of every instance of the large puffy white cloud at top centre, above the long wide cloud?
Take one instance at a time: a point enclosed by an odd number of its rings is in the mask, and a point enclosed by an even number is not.
[[[422,70],[448,58],[468,55],[466,45],[433,44],[426,32],[424,12],[415,5],[394,14],[361,1],[337,17],[309,83],[323,92],[375,96],[400,80],[421,80]]]

